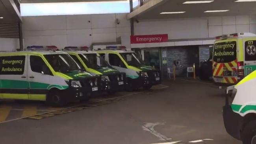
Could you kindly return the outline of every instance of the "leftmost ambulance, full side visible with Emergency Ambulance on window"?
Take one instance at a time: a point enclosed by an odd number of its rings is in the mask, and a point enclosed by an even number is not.
[[[100,79],[56,50],[56,46],[28,46],[22,52],[1,52],[0,99],[41,100],[53,106],[89,100]]]

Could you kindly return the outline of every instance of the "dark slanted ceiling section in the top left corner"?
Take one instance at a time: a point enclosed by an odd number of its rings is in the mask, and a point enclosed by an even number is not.
[[[19,10],[11,0],[0,0],[0,17],[4,17],[0,18],[0,23],[17,23],[21,20]]]

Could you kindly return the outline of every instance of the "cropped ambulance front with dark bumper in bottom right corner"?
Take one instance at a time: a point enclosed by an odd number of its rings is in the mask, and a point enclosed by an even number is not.
[[[243,144],[256,144],[256,71],[237,85],[227,88],[223,107],[224,126],[228,134]]]

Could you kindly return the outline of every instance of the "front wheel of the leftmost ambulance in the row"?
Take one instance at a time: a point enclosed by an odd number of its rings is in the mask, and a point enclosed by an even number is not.
[[[65,97],[60,95],[59,90],[52,89],[46,97],[46,102],[54,107],[63,107],[67,104]]]

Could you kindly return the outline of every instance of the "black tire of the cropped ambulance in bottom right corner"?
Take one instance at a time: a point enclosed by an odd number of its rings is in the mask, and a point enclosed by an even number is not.
[[[241,133],[243,144],[256,144],[256,120],[248,122]],[[252,143],[254,139],[254,143]]]

